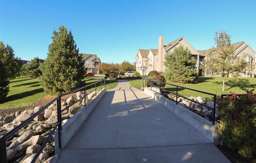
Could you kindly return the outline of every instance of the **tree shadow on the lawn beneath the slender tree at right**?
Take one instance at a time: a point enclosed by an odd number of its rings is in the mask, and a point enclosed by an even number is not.
[[[222,84],[222,82],[214,82],[216,84]],[[248,79],[241,79],[239,78],[238,80],[228,80],[225,85],[229,86],[228,89],[225,89],[225,91],[233,88],[233,87],[238,87],[239,89],[245,91],[247,88],[254,88],[256,87],[255,83],[250,83]]]

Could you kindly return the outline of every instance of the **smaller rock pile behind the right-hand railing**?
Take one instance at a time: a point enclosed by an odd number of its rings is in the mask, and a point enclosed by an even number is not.
[[[171,93],[166,94],[165,92],[163,92],[163,94],[165,96],[167,96],[168,98],[176,101],[176,95],[171,94]],[[202,103],[202,104],[205,104],[205,105],[207,105],[209,107],[212,107],[212,108],[214,106],[213,101],[207,101],[205,98],[203,98],[201,96],[198,96],[198,97],[190,96],[189,99],[197,101],[197,102]],[[198,103],[195,103],[193,101],[187,100],[187,99],[182,98],[182,97],[178,97],[177,101],[180,102],[185,108],[191,110],[192,112],[198,114],[199,116],[202,116],[203,118],[205,118],[207,120],[212,119],[212,114],[213,114],[212,109],[210,109],[208,107],[205,107],[205,106],[202,106]],[[218,105],[216,104],[215,118],[219,118],[219,117],[220,117],[220,112],[218,110]]]

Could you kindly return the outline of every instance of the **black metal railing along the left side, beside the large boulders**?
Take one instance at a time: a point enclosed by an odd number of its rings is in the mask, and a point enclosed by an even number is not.
[[[97,83],[100,83],[100,85]],[[111,80],[110,80],[111,83]],[[94,85],[95,89],[93,89],[91,92],[89,92],[88,94],[86,94],[86,88],[91,87],[92,85]],[[102,91],[102,85],[104,85],[104,88],[106,88],[106,81],[105,79],[101,79],[98,82],[95,83],[91,83],[89,85],[86,85],[84,87],[75,89],[73,91],[70,91],[68,93],[64,93],[61,94],[60,96],[56,97],[54,100],[52,100],[51,102],[49,102],[47,105],[45,105],[44,107],[42,107],[41,109],[39,109],[37,112],[35,112],[31,117],[27,118],[27,120],[23,121],[22,123],[20,123],[20,125],[16,126],[14,129],[10,130],[9,132],[7,132],[6,134],[4,134],[1,138],[0,138],[0,163],[7,163],[7,155],[6,155],[6,140],[8,138],[10,138],[13,134],[15,134],[18,130],[20,130],[22,127],[24,127],[27,123],[29,123],[31,120],[33,120],[35,117],[38,116],[38,114],[40,114],[42,111],[44,111],[45,109],[47,109],[51,104],[53,104],[55,101],[57,101],[57,119],[58,122],[55,125],[55,127],[53,127],[53,130],[51,131],[51,133],[49,134],[49,136],[46,138],[46,140],[44,141],[44,143],[41,145],[39,151],[37,152],[37,154],[35,155],[35,157],[32,159],[31,163],[35,163],[37,161],[37,158],[39,157],[40,153],[43,151],[44,147],[46,146],[46,143],[48,143],[48,141],[50,140],[51,136],[54,134],[55,130],[58,127],[58,141],[59,141],[59,148],[61,149],[61,136],[60,136],[60,131],[62,130],[62,120],[61,120],[61,113],[63,111],[65,111],[66,109],[68,109],[69,107],[71,107],[72,105],[74,105],[75,103],[77,103],[78,101],[81,101],[84,99],[84,107],[86,106],[86,96],[88,96],[90,93],[95,91],[95,96],[97,96],[97,88],[101,87],[101,91]],[[68,105],[67,107],[65,107],[64,109],[61,110],[61,98],[63,96],[66,96],[68,94],[73,94],[75,92],[78,91],[84,91],[84,96],[81,97],[79,100],[71,103],[70,105]]]

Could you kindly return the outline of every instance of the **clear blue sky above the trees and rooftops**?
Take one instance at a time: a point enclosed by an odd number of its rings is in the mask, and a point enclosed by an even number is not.
[[[184,37],[198,50],[214,45],[215,31],[256,51],[256,0],[0,0],[0,40],[16,56],[46,58],[53,29],[71,29],[80,53],[102,62],[135,61],[138,49]]]

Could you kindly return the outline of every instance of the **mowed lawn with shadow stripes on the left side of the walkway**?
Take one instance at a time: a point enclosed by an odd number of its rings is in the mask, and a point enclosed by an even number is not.
[[[82,85],[89,85],[91,83],[97,82],[103,77],[86,77],[82,79]],[[106,81],[106,89],[110,89],[110,82]],[[103,82],[102,82],[103,84]],[[100,83],[97,83],[97,91],[100,91]],[[112,81],[112,88],[117,85],[117,81]],[[102,85],[102,88],[104,85]],[[7,95],[7,101],[5,103],[0,103],[0,109],[18,108],[29,106],[40,98],[46,96],[44,89],[39,84],[38,78],[30,79],[28,76],[21,76],[14,80],[11,80],[9,84],[10,91]],[[94,86],[89,87],[87,91],[92,91]]]

